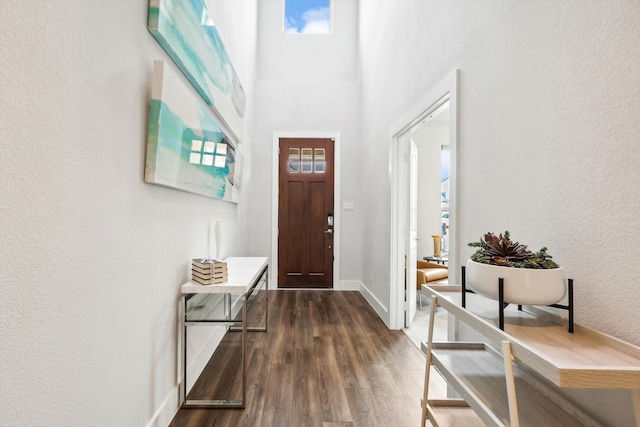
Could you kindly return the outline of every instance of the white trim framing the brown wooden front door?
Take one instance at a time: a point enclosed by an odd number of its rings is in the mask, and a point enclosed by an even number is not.
[[[333,172],[333,290],[342,290],[340,284],[340,132],[274,132],[271,155],[271,263],[270,280],[273,289],[278,287],[278,177],[280,173],[279,150],[280,138],[331,138],[334,141]]]

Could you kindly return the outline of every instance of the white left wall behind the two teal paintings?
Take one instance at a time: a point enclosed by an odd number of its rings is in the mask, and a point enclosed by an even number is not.
[[[256,2],[213,4],[225,41],[243,28],[228,47],[251,100]],[[179,286],[208,221],[223,255],[246,252],[245,206],[143,182],[153,60],[170,62],[147,9],[2,4],[2,426],[166,425]]]

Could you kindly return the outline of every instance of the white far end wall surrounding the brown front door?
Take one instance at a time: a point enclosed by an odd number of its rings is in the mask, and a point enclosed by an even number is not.
[[[334,2],[331,35],[284,34],[280,0],[259,2],[258,81],[251,166],[254,187],[249,204],[256,215],[249,225],[252,254],[272,248],[272,168],[274,132],[340,133],[340,192],[354,211],[340,212],[340,283],[360,281],[361,217],[359,100],[357,83],[357,2]],[[275,279],[276,268],[271,269]],[[275,284],[275,282],[274,282]]]

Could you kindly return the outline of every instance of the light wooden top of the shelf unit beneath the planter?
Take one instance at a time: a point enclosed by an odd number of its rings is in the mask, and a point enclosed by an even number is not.
[[[514,357],[560,387],[640,389],[640,347],[577,323],[571,334],[566,321],[538,307],[518,311],[508,306],[501,331],[497,301],[468,293],[465,310],[460,290],[435,289],[423,287],[427,295],[436,296],[439,306],[496,346],[510,341]]]

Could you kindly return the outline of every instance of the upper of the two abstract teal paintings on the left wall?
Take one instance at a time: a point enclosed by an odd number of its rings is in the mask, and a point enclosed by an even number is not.
[[[150,0],[149,32],[237,142],[246,95],[203,0]]]

